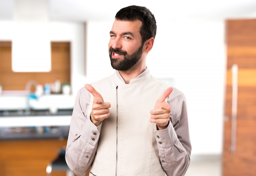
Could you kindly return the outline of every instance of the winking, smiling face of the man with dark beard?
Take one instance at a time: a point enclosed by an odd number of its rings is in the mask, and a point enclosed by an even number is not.
[[[139,29],[142,22],[115,20],[110,31],[109,56],[114,69],[126,71],[141,58],[143,44]]]

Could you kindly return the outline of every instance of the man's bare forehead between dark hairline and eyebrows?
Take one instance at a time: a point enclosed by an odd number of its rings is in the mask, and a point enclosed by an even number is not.
[[[142,22],[140,20],[135,21],[123,21],[123,20],[115,20],[111,29],[111,32],[116,34],[118,33],[127,33],[131,32],[134,35],[140,35],[139,30],[142,26]]]

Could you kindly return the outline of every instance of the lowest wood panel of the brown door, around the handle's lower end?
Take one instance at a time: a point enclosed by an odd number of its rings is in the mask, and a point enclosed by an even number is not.
[[[236,151],[231,154],[231,121],[224,125],[223,176],[255,176],[253,163],[256,163],[256,157],[252,141],[256,141],[256,120],[238,120],[237,127],[240,132],[236,134]]]

